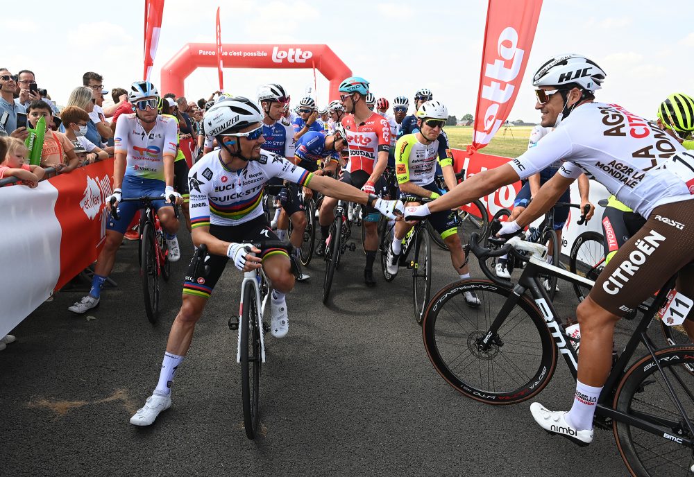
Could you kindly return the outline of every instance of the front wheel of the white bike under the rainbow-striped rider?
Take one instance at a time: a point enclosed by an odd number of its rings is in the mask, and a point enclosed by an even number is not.
[[[241,314],[241,390],[244,399],[244,427],[248,439],[255,439],[260,405],[260,317],[255,288],[246,284]]]

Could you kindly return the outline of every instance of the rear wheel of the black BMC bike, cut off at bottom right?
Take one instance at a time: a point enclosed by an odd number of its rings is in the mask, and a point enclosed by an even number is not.
[[[694,365],[694,346],[657,350],[658,363],[668,376],[689,419],[694,416],[694,377],[686,365]],[[693,439],[684,418],[652,356],[644,356],[627,370],[613,401],[617,410],[661,427],[652,434],[625,422],[614,421],[617,449],[632,476],[691,476],[692,447],[682,438]],[[677,440],[680,440],[677,442]]]

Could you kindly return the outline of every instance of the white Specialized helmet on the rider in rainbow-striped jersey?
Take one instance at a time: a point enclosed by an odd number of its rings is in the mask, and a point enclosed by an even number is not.
[[[205,132],[210,136],[239,132],[262,120],[263,114],[257,103],[243,96],[232,96],[216,103],[203,116]]]

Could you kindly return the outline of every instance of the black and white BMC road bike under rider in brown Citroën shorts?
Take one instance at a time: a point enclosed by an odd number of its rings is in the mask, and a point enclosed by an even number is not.
[[[540,276],[587,286],[593,282],[546,263],[547,249],[541,244],[516,236],[498,250],[489,250],[480,247],[478,239],[472,237],[470,248],[489,280],[449,284],[425,312],[423,338],[434,368],[465,396],[496,405],[518,404],[543,390],[555,371],[557,354],[564,356],[575,379],[580,340],[564,331]],[[516,249],[530,253],[530,258]],[[516,285],[498,279],[485,265],[486,258],[507,253],[527,260]],[[656,349],[647,334],[656,313],[663,313],[667,321],[677,312],[678,305],[665,306],[674,284],[672,277],[642,318],[634,320],[636,329],[622,351],[613,352],[611,372],[596,406],[594,426],[612,428],[632,476],[694,472],[694,376],[684,366],[694,364],[694,346]],[[463,306],[465,291],[477,293],[484,306]],[[645,356],[635,356],[639,345],[647,350]]]

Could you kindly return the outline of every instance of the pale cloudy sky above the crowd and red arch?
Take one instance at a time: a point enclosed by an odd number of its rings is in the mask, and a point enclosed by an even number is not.
[[[81,85],[85,71],[100,73],[108,89],[127,89],[142,76],[144,0],[103,4],[100,16],[91,4],[40,3],[40,15],[30,17],[19,8],[3,12],[0,27],[12,40],[4,43],[0,67],[34,71],[39,87],[58,105]],[[354,75],[371,82],[377,98],[392,103],[404,95],[412,102],[417,89],[428,87],[449,114],[475,113],[486,1],[166,0],[151,78],[156,86],[160,69],[183,44],[214,43],[217,6],[223,43],[327,44]],[[650,119],[668,94],[694,95],[693,13],[689,0],[609,0],[587,7],[545,0],[509,119],[538,121],[531,78],[559,53],[581,53],[606,71],[598,101]],[[318,103],[325,105],[328,80],[320,73],[318,78]],[[296,103],[314,78],[312,69],[225,69],[224,83],[228,92],[251,97],[262,83],[280,83]],[[197,69],[185,81],[192,100],[217,87],[212,68]]]

